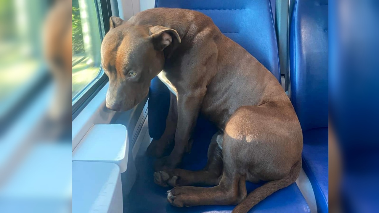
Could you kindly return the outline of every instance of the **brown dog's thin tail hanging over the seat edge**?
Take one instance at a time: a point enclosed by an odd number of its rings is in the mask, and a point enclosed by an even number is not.
[[[274,192],[285,188],[296,181],[299,177],[301,170],[301,159],[297,161],[291,168],[290,173],[280,180],[270,181],[265,183],[263,186],[258,187],[250,194],[247,195],[245,199],[242,200],[232,211],[232,213],[247,213],[254,205],[258,204],[261,200],[270,196]]]

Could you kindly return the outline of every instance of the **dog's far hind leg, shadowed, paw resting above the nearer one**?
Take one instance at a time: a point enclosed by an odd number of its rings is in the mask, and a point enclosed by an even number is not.
[[[155,172],[154,182],[161,186],[215,186],[221,180],[222,170],[222,135],[216,133],[209,144],[208,161],[204,169],[200,171],[173,169]]]

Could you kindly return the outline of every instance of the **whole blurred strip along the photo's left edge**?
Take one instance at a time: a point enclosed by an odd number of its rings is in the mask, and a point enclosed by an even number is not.
[[[71,5],[0,1],[2,213],[71,211]]]

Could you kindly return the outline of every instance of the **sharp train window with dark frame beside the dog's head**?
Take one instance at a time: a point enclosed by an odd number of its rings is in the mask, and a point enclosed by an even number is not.
[[[109,0],[72,1],[73,117],[108,80],[101,67],[100,46],[110,16]]]

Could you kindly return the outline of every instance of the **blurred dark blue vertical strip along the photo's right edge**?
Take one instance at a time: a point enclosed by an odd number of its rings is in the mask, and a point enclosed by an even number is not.
[[[329,1],[330,212],[378,211],[377,38],[378,1]]]

